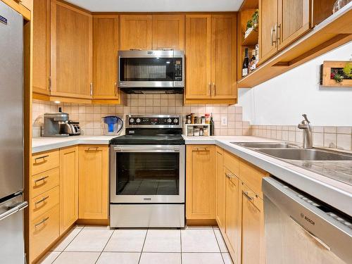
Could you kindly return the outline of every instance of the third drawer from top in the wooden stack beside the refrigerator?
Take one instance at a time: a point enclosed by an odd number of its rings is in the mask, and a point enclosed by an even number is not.
[[[42,215],[47,210],[53,208],[58,204],[58,195],[59,189],[58,186],[50,189],[49,191],[39,194],[37,197],[33,198],[31,203],[32,210],[32,220],[38,218],[39,215]]]

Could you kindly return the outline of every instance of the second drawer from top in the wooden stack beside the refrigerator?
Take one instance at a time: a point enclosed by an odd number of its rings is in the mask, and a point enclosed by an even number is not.
[[[58,186],[59,169],[55,168],[31,177],[32,198]]]

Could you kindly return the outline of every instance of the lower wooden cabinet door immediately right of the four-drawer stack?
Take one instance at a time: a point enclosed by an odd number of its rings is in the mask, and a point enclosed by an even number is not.
[[[78,219],[78,147],[60,149],[60,234]]]

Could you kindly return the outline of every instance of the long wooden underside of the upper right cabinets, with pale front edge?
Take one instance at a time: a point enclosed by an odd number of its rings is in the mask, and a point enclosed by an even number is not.
[[[352,40],[352,3],[313,27],[301,39],[260,64],[256,70],[238,80],[238,88],[251,88],[281,75]]]

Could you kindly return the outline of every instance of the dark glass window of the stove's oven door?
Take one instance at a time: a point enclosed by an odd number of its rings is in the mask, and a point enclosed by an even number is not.
[[[118,195],[179,195],[180,153],[116,153]]]

